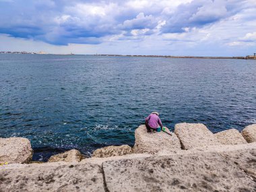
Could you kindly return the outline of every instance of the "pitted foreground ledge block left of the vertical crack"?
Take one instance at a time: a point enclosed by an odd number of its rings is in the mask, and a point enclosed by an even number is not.
[[[0,170],[0,191],[104,191],[97,164],[45,163]]]

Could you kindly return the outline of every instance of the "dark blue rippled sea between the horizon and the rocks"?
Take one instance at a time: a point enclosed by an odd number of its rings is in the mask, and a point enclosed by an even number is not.
[[[134,143],[162,123],[215,132],[256,123],[256,61],[82,55],[0,55],[0,137],[26,137],[34,160]]]

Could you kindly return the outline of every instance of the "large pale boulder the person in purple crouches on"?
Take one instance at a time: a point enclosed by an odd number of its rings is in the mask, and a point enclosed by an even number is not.
[[[167,128],[166,132],[171,133]],[[181,143],[174,133],[156,132],[148,133],[145,125],[140,125],[135,130],[135,144],[133,153],[136,154],[156,154],[161,150],[169,152],[181,150]]]

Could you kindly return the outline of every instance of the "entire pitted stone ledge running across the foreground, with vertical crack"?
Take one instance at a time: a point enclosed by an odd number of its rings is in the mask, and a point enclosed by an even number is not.
[[[256,143],[0,166],[0,191],[255,191]]]

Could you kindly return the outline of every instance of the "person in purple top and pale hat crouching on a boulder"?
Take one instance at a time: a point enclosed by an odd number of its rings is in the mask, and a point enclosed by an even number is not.
[[[145,125],[147,127],[148,132],[151,132],[151,129],[153,129],[153,131],[156,131],[156,129],[159,127],[161,127],[161,129],[162,129],[162,122],[158,116],[159,116],[159,113],[152,112],[145,119]]]

